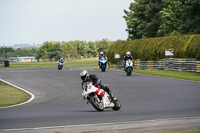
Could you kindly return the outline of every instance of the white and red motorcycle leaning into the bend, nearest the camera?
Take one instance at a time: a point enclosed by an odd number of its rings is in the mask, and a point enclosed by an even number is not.
[[[107,92],[100,88],[95,87],[92,82],[83,83],[82,96],[87,103],[91,103],[97,111],[103,111],[106,108],[112,108],[113,110],[119,110],[121,104],[117,98],[112,100]]]

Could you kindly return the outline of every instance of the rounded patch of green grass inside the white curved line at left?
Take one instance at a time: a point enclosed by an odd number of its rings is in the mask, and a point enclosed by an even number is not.
[[[23,103],[29,98],[30,95],[24,91],[0,81],[0,107]]]

